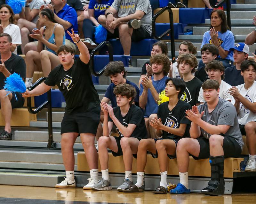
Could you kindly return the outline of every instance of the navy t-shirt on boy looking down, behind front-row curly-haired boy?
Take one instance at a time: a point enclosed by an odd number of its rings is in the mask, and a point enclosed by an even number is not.
[[[127,79],[126,79],[125,84],[130,84],[131,86],[133,86],[136,89],[137,93],[136,93],[136,97],[135,97],[134,101],[135,101],[135,105],[139,106],[140,90],[139,90],[138,86],[136,84],[134,84],[133,82],[128,81]],[[111,101],[112,108],[117,106],[116,95],[113,93],[115,86],[116,85],[114,83],[109,84],[108,89],[107,89],[107,91],[105,93],[105,96],[104,96],[104,97],[108,98]]]

